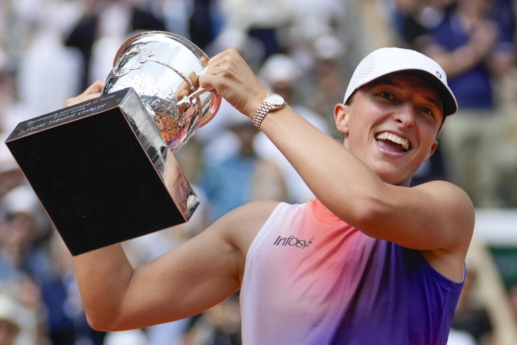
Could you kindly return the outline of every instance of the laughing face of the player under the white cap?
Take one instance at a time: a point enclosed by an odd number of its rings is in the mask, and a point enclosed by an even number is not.
[[[393,185],[408,186],[434,153],[443,104],[435,89],[408,73],[392,73],[360,87],[334,119],[343,145]]]

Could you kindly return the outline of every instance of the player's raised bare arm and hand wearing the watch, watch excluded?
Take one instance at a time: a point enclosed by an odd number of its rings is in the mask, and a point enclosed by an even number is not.
[[[210,61],[200,78],[243,114],[253,117],[267,88],[235,51]],[[262,131],[291,162],[315,196],[364,233],[420,250],[446,249],[465,256],[474,208],[466,194],[446,182],[416,188],[384,183],[345,147],[290,107],[267,115]]]

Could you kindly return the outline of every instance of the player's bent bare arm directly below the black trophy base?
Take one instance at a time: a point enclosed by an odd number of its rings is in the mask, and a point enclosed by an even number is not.
[[[237,208],[134,269],[119,244],[74,257],[88,323],[102,331],[139,328],[223,301],[240,287],[249,245],[277,204],[257,201]]]

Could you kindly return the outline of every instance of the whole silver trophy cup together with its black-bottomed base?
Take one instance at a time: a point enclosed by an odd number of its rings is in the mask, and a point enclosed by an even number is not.
[[[215,115],[208,56],[165,32],[118,50],[100,97],[24,121],[6,144],[73,255],[187,221],[200,200],[173,153]]]

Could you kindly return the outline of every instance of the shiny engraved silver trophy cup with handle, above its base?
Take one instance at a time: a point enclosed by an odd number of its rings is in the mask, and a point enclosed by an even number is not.
[[[165,145],[176,152],[221,104],[219,94],[199,88],[208,59],[194,43],[172,33],[135,35],[118,49],[101,95],[133,87]]]

